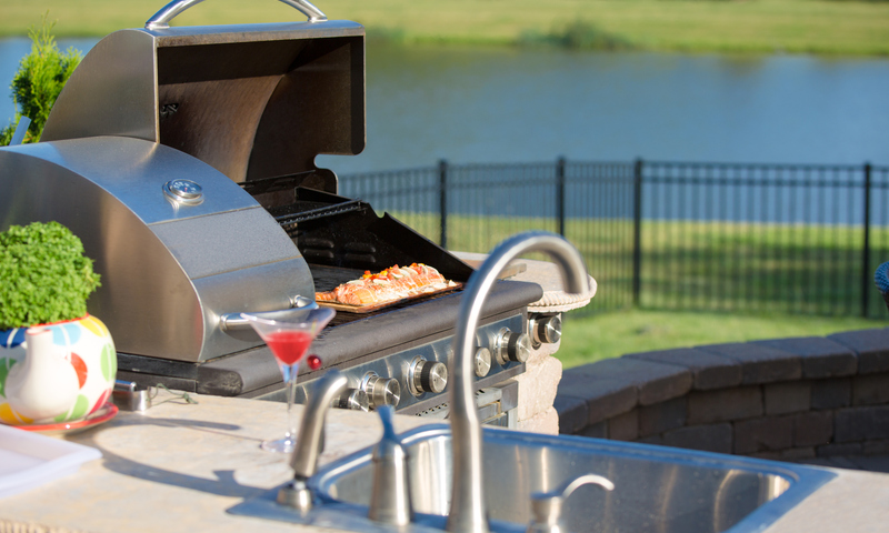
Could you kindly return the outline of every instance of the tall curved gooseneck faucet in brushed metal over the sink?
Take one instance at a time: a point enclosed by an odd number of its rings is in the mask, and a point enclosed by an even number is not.
[[[589,291],[587,269],[580,252],[563,238],[542,231],[519,233],[505,240],[469,279],[453,336],[453,380],[450,391],[453,484],[447,524],[450,532],[489,531],[482,491],[481,424],[472,386],[476,375],[472,369],[476,329],[485,300],[500,272],[510,261],[528,252],[545,252],[552,257],[559,265],[567,292],[581,294]]]

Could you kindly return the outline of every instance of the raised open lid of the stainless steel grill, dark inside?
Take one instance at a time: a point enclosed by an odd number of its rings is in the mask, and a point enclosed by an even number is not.
[[[42,140],[144,139],[237,183],[300,175],[336,193],[314,158],[363,150],[364,91],[354,22],[128,29],[83,58]]]

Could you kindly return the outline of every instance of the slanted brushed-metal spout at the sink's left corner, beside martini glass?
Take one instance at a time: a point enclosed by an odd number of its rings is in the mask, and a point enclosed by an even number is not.
[[[307,512],[312,506],[312,494],[307,485],[309,477],[318,470],[318,457],[323,450],[324,421],[333,400],[349,384],[349,379],[339,370],[332,369],[314,386],[297,435],[297,446],[290,456],[293,481],[278,492],[278,503]]]

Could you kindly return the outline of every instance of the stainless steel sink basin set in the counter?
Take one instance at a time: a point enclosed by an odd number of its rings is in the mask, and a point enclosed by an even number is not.
[[[812,466],[598,439],[487,428],[483,434],[485,494],[495,531],[523,532],[531,521],[531,493],[587,473],[608,477],[616,489],[575,491],[562,512],[568,531],[761,531],[835,475]],[[451,492],[450,428],[426,425],[402,438],[418,513],[413,529],[443,527]],[[266,517],[377,531],[371,522],[361,525],[372,486],[371,451],[342,457],[312,477],[319,511],[337,510],[328,519],[287,519],[280,509],[271,513],[278,516]],[[274,505],[271,500],[267,506]],[[337,515],[339,525],[326,523],[337,522]]]

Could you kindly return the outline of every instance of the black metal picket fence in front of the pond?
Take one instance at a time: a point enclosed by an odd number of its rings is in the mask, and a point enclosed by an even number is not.
[[[561,233],[599,283],[590,311],[886,314],[887,167],[442,161],[343,175],[340,191],[451,250]]]

